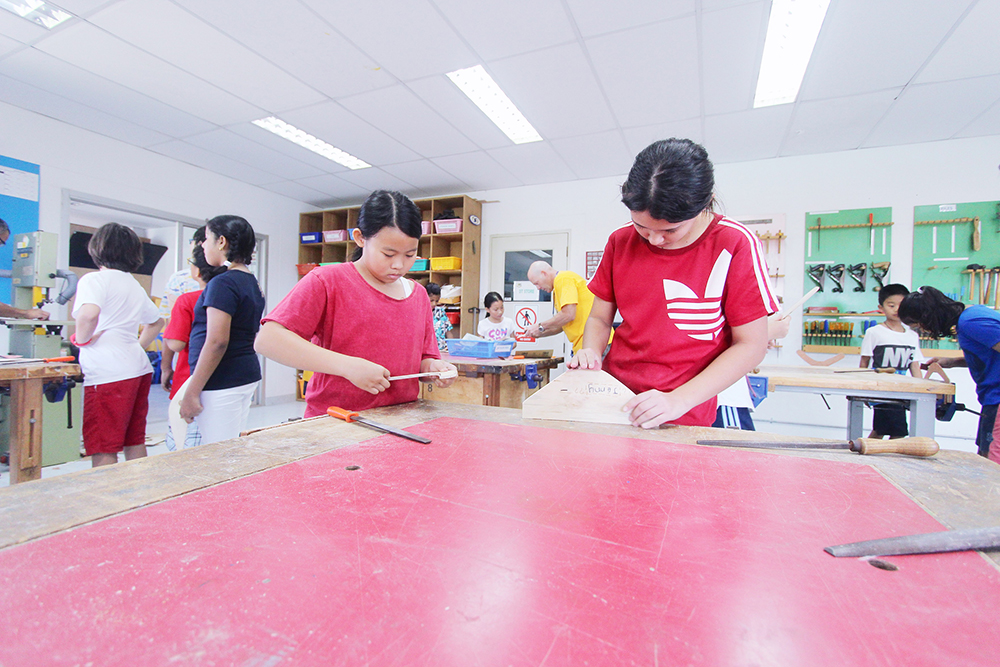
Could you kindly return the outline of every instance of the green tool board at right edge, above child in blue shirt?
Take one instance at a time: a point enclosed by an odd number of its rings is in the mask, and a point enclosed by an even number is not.
[[[998,282],[1000,202],[913,208],[913,289],[930,285],[956,301],[996,308]]]

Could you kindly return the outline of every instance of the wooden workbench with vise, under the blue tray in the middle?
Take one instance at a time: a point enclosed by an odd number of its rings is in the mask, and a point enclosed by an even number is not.
[[[458,368],[458,379],[444,389],[422,382],[421,398],[518,409],[524,399],[548,384],[550,369],[563,362],[562,357],[474,359],[444,354],[441,358]],[[534,377],[529,382],[527,374],[531,368]]]

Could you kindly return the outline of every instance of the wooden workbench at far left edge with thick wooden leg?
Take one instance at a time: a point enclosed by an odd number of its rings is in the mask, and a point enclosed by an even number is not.
[[[10,387],[10,483],[42,476],[42,390],[45,383],[79,377],[66,363],[0,364],[0,387]]]

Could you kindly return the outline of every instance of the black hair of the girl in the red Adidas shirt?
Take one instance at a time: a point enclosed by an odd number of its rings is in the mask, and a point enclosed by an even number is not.
[[[622,184],[622,203],[657,220],[683,222],[712,206],[714,190],[708,152],[690,139],[664,139],[635,157]]]

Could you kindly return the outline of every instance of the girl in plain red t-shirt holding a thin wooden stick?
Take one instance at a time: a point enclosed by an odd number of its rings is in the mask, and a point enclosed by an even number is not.
[[[416,400],[417,380],[390,383],[393,375],[457,373],[438,352],[427,292],[405,277],[421,220],[405,195],[373,192],[354,230],[354,261],[313,269],[263,319],[257,352],[315,372],[306,417],[332,405],[365,410]],[[452,382],[434,380],[439,387]]]

